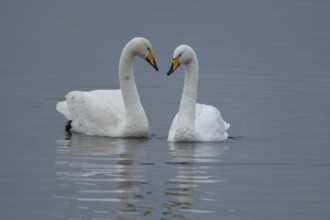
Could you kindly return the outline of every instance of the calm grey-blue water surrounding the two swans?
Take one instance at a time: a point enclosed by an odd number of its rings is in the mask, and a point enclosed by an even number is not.
[[[1,219],[328,219],[327,1],[2,1]],[[136,60],[151,138],[64,132],[72,90],[118,88],[121,49]],[[200,103],[231,124],[226,142],[168,144],[182,69],[199,55]]]

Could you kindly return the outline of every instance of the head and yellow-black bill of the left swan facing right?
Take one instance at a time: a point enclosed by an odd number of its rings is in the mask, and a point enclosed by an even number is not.
[[[151,43],[144,37],[133,38],[128,45],[132,48],[134,56],[145,59],[155,70],[158,71]]]

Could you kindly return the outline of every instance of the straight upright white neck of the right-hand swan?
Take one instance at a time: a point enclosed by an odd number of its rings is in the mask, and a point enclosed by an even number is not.
[[[197,57],[185,65],[185,80],[179,108],[178,126],[195,127],[195,106],[198,85]]]

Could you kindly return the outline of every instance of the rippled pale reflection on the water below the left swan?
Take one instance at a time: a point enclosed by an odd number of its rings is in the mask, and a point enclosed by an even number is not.
[[[56,176],[63,190],[54,197],[63,201],[64,211],[56,217],[130,219],[151,213],[151,207],[140,205],[146,195],[139,187],[146,181],[136,162],[146,139],[74,134],[58,143]]]

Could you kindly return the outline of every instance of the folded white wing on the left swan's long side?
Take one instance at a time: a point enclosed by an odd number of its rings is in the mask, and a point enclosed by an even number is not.
[[[72,129],[87,135],[118,136],[126,119],[122,101],[115,103],[119,94],[117,90],[68,93]]]

